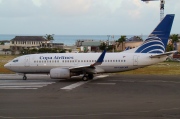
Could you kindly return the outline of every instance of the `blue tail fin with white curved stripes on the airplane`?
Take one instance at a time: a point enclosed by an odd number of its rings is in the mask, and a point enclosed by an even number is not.
[[[164,53],[168,43],[174,14],[168,14],[153,30],[144,43],[135,51],[136,53]]]

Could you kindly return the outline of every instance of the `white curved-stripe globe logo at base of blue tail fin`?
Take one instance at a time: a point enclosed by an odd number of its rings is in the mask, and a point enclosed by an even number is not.
[[[164,53],[165,45],[158,37],[149,37],[135,51],[136,53]]]

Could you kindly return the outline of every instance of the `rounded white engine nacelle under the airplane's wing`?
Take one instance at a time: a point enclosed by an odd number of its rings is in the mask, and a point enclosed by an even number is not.
[[[71,73],[69,69],[54,68],[50,70],[50,77],[52,79],[69,79]]]

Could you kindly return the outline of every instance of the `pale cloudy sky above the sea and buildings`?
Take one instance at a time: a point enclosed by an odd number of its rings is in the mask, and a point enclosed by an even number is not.
[[[160,2],[141,0],[0,0],[0,34],[148,35],[160,22]],[[166,0],[180,34],[180,0]]]

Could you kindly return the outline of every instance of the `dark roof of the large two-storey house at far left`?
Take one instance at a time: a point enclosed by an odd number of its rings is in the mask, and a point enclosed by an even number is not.
[[[46,41],[43,36],[16,36],[11,41]]]

